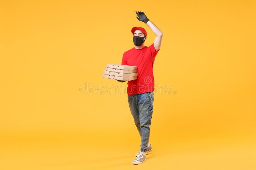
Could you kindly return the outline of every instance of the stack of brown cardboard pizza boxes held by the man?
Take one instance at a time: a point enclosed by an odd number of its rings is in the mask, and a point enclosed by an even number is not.
[[[106,70],[103,70],[102,77],[123,81],[136,80],[138,77],[137,67],[122,64],[107,64]]]

